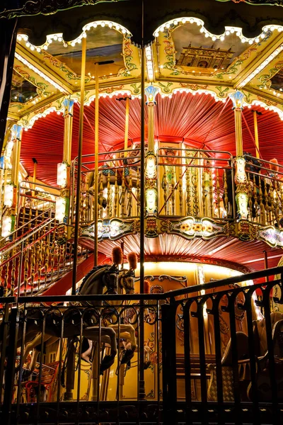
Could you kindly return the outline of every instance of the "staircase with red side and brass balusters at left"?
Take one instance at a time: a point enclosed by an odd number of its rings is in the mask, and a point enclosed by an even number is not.
[[[45,290],[50,293],[54,283],[64,277],[66,283],[57,285],[55,293],[66,293],[71,286],[73,243],[59,244],[58,229],[59,223],[55,220],[53,208],[21,208],[17,229],[2,239],[4,246],[0,249],[0,276],[4,296],[39,295]],[[88,259],[87,249],[79,248],[78,257],[81,268],[81,263]],[[86,273],[93,266],[93,261],[88,260],[88,263]],[[82,270],[85,273],[84,268]],[[83,277],[81,273],[78,276]]]

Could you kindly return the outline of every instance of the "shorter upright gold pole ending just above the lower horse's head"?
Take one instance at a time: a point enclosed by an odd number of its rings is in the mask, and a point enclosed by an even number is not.
[[[98,142],[99,142],[98,63],[96,63],[95,75],[96,75],[96,115],[95,115],[95,142],[94,142],[94,266],[97,266],[98,265]]]

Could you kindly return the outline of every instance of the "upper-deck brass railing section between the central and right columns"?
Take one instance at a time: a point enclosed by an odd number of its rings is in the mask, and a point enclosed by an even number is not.
[[[229,152],[203,149],[158,149],[158,215],[226,219],[229,190],[234,191]],[[171,153],[172,152],[172,153]],[[228,188],[226,173],[232,176]]]

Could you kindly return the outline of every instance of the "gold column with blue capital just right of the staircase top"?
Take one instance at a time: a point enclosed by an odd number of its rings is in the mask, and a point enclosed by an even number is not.
[[[73,129],[74,101],[65,98],[64,105],[64,145],[63,160],[57,165],[57,185],[61,187],[61,198],[65,205],[64,221],[69,224],[70,219],[70,181],[71,181],[71,137]]]

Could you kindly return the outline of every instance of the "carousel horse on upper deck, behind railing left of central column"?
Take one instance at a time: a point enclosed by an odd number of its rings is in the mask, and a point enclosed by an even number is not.
[[[108,181],[110,185],[115,185],[117,181],[117,186],[122,186],[122,181],[124,177],[126,188],[129,188],[129,186],[136,188],[137,181],[139,180],[138,164],[140,160],[134,159],[134,157],[137,157],[138,153],[138,149],[132,149],[131,151],[129,151],[129,157],[122,159],[123,166],[121,166],[121,168],[115,168],[115,166],[111,168],[106,164],[101,166],[98,174],[99,185],[102,184],[103,189],[105,189],[108,186]],[[133,166],[134,164],[137,164],[137,166]],[[89,171],[86,176],[86,192],[93,195],[94,186],[94,171]]]

